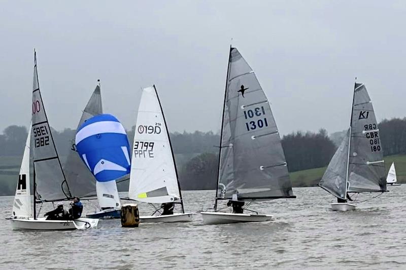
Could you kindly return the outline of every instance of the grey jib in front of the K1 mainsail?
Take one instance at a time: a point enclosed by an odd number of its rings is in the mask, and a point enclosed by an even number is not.
[[[346,199],[348,144],[350,142],[350,129],[335,151],[330,163],[324,172],[319,186],[330,192],[331,195]]]

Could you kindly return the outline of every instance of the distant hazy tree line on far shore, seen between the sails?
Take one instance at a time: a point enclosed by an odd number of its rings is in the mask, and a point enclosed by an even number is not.
[[[383,120],[379,128],[385,156],[406,154],[406,118]],[[58,132],[52,129],[52,134],[63,162],[63,158],[72,147],[71,139],[75,136],[75,130],[64,129]],[[132,145],[134,127],[127,132],[127,135]],[[218,147],[216,146],[219,145],[219,134],[211,131],[195,131],[193,133],[175,132],[170,136],[182,188],[215,188],[218,170]],[[26,137],[26,127],[7,127],[0,135],[0,156],[22,156]],[[294,172],[326,166],[340,138],[340,132],[334,133],[333,143],[323,129],[317,133],[297,131],[283,136],[282,146],[288,170]],[[0,164],[0,176],[10,173],[12,172],[9,171],[8,166]],[[0,187],[5,191],[1,178]]]

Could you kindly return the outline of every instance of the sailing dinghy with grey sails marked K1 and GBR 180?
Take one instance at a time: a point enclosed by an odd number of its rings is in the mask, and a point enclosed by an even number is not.
[[[337,197],[333,211],[355,210],[350,193],[386,191],[385,163],[377,119],[366,87],[355,83],[350,128],[319,186]]]

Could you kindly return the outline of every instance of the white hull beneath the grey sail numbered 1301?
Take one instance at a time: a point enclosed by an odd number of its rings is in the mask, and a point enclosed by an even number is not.
[[[272,220],[272,215],[234,214],[224,212],[201,212],[204,224],[227,224],[237,222],[263,222]]]

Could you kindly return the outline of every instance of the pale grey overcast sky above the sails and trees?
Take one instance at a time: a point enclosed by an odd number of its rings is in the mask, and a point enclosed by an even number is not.
[[[282,134],[346,129],[355,76],[378,121],[403,118],[405,27],[405,1],[2,1],[0,130],[29,124],[36,48],[57,130],[76,127],[100,79],[127,129],[155,84],[171,132],[217,132],[231,38]]]

